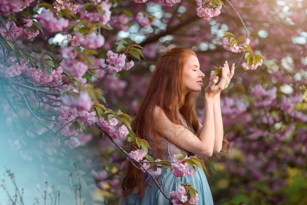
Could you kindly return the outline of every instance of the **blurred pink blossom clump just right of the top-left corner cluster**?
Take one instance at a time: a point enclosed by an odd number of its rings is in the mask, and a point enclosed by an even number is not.
[[[68,19],[58,19],[49,9],[43,9],[36,19],[42,28],[51,32],[62,31],[64,28],[68,27],[69,24]]]

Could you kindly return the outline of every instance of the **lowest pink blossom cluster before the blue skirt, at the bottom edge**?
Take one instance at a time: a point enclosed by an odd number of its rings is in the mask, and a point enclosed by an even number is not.
[[[169,194],[171,196],[171,202],[173,205],[182,205],[182,204],[196,204],[199,201],[199,195],[196,193],[195,198],[191,196],[188,200],[186,195],[187,190],[183,186],[179,186],[177,191],[171,191]]]

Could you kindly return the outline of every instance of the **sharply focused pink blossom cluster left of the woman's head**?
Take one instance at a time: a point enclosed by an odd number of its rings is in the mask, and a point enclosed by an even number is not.
[[[113,53],[111,50],[106,53],[107,59],[101,59],[101,67],[104,68],[104,71],[107,73],[117,73],[124,70],[129,70],[134,66],[134,61],[126,63],[126,55]],[[108,65],[105,64],[108,63]]]

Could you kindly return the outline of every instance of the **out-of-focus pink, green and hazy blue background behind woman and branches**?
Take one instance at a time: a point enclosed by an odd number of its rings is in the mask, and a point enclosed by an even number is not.
[[[109,24],[114,29],[101,31],[105,44],[100,53],[115,51],[114,43],[125,39],[144,47],[144,58],[134,58],[135,66],[128,71],[101,74],[95,85],[105,91],[108,108],[120,109],[131,118],[159,57],[167,50],[184,46],[196,52],[206,74],[203,91],[214,66],[222,66],[225,60],[238,64],[243,54],[226,51],[222,45],[224,32],[246,35],[237,13],[226,1],[222,13],[209,20],[196,15],[194,1],[181,1],[172,7],[158,1],[110,2]],[[231,84],[221,94],[224,130],[231,148],[229,154],[210,157],[214,204],[307,204],[307,2],[230,2],[247,27],[253,51],[266,60],[256,70],[244,70],[239,64]],[[36,3],[25,10],[33,13]],[[44,3],[51,5],[53,1]],[[139,12],[156,20],[145,27],[136,20]],[[44,30],[44,34],[25,44],[51,55],[58,55],[60,47],[68,44],[65,32]],[[14,173],[17,186],[24,188],[25,204],[32,204],[34,198],[43,203],[44,190],[58,190],[61,204],[75,204],[73,190],[79,179],[85,204],[118,204],[126,156],[95,126],[80,135],[79,147],[59,149],[53,144],[54,136],[42,134],[46,130],[12,94],[11,103],[24,123],[17,120],[5,97],[13,91],[4,91],[5,85],[1,86],[0,173],[4,173],[9,192],[14,194],[14,185],[7,169]],[[196,101],[201,122],[203,91]],[[35,98],[30,100],[33,103]],[[54,114],[53,108],[42,109]],[[29,129],[42,135],[31,136]],[[116,140],[127,145],[126,138]],[[0,204],[11,204],[4,189],[0,189]]]

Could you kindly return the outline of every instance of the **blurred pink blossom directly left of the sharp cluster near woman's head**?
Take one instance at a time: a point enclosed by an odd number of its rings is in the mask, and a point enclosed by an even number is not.
[[[82,77],[89,69],[86,64],[78,60],[64,59],[61,62],[61,67],[64,71],[71,73],[76,77]]]

